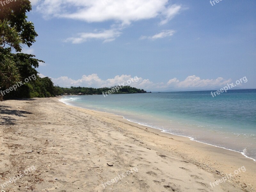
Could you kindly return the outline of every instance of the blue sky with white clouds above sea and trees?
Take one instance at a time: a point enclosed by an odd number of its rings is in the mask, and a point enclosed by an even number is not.
[[[256,88],[255,0],[31,3],[38,37],[23,52],[55,85],[206,90],[246,77],[237,87]]]

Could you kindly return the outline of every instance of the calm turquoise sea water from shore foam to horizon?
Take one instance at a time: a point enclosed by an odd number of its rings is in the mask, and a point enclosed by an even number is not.
[[[81,108],[122,115],[132,122],[231,149],[256,159],[256,89],[65,96]]]

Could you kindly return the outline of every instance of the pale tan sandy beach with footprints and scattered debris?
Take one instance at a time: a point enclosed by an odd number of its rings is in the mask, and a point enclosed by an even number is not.
[[[0,102],[0,191],[255,191],[240,153],[58,99]]]

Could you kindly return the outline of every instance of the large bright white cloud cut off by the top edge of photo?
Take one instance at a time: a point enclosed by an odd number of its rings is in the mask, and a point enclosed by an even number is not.
[[[35,1],[35,0],[34,0]],[[68,18],[86,22],[114,20],[122,24],[162,17],[167,23],[181,10],[168,0],[42,0],[37,11],[45,17]]]

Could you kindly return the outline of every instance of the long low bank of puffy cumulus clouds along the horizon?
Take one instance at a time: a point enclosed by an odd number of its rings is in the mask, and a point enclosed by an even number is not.
[[[39,74],[40,77],[45,77]],[[50,77],[51,78],[51,77]],[[51,78],[55,85],[61,87],[70,86],[83,86],[83,87],[111,87],[119,84],[128,84],[133,87],[137,87],[145,90],[168,90],[168,89],[193,89],[193,88],[216,88],[223,87],[227,83],[231,83],[231,79],[225,80],[222,77],[217,79],[201,79],[198,76],[188,76],[185,80],[180,81],[177,78],[170,79],[167,83],[153,83],[149,79],[143,79],[142,77],[133,77],[131,75],[121,75],[115,76],[114,78],[109,78],[107,80],[101,79],[97,74],[83,75],[81,79],[74,80],[67,76],[62,76],[59,78]],[[131,79],[133,79],[131,81]]]

